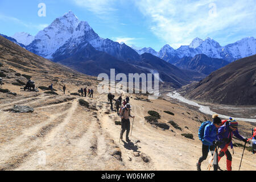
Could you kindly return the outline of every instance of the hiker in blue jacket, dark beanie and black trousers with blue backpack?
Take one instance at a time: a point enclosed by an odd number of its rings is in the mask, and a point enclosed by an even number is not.
[[[217,138],[217,128],[221,126],[221,119],[218,117],[217,114],[212,115],[213,122],[206,121],[203,122],[200,129],[199,129],[199,139],[202,141],[202,156],[199,158],[199,161],[196,163],[197,171],[201,171],[201,163],[207,159],[208,152],[214,155],[215,145],[216,145],[216,138]],[[213,162],[213,169],[214,171],[218,170],[218,163],[217,163],[217,150],[214,155],[214,162]],[[217,164],[216,164],[217,163]]]

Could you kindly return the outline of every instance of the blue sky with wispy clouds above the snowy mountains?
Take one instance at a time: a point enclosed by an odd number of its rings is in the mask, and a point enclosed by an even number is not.
[[[39,3],[46,16],[38,16]],[[247,36],[256,37],[256,1],[176,0],[1,0],[0,33],[36,35],[69,10],[86,20],[98,35],[129,46],[174,48],[199,37],[225,46]]]

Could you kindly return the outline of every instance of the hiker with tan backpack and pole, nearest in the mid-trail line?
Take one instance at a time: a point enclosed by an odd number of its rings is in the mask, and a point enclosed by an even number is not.
[[[130,119],[129,118],[135,118],[131,115],[131,106],[130,104],[126,104],[125,107],[121,110],[120,117],[122,118],[122,130],[120,133],[120,139],[123,139],[123,133],[125,133],[126,130],[126,142],[130,142],[129,139],[129,132],[130,132]]]

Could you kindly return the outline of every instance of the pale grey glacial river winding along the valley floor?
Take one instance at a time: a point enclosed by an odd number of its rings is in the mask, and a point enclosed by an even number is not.
[[[167,96],[171,97],[171,98],[175,98],[176,100],[179,100],[180,102],[184,102],[186,104],[189,104],[189,105],[192,105],[192,106],[196,106],[196,107],[199,107],[199,110],[204,113],[204,114],[209,114],[209,115],[212,115],[212,114],[218,114],[216,112],[213,112],[212,110],[210,110],[210,107],[209,106],[203,106],[203,105],[200,105],[200,104],[197,104],[196,102],[194,101],[191,101],[191,100],[188,100],[187,98],[184,98],[183,96],[181,96],[179,93],[177,92],[171,92],[171,93],[168,93]],[[230,118],[232,116],[228,116],[228,115],[222,115],[222,114],[218,114],[218,116],[220,118]],[[233,117],[233,118],[236,118],[236,117]],[[236,118],[237,121],[249,121],[249,122],[256,122],[256,119],[249,119],[249,118]]]

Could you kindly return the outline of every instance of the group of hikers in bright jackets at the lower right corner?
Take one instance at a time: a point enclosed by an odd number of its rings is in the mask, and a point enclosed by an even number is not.
[[[221,120],[217,114],[212,115],[213,121],[203,122],[199,129],[199,139],[203,143],[202,156],[196,163],[197,171],[201,171],[201,163],[207,159],[208,152],[213,156],[213,169],[217,171],[220,169],[218,162],[225,155],[226,156],[226,169],[232,171],[232,155],[229,152],[228,147],[233,148],[232,138],[233,136],[247,143],[248,140],[242,137],[238,132],[238,122],[229,118],[229,120]],[[254,129],[256,131],[256,128]],[[253,137],[255,137],[256,132]],[[255,138],[251,138],[255,139]],[[255,148],[255,144],[253,146]],[[221,148],[218,152],[218,148]],[[256,150],[256,149],[254,149]],[[253,150],[253,151],[254,151]]]

